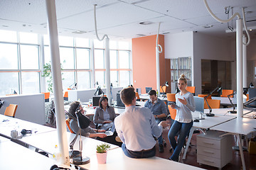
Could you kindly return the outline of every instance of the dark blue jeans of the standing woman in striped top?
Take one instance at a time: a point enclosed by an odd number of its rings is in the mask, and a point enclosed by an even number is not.
[[[191,123],[179,123],[176,120],[174,124],[171,125],[171,129],[168,132],[168,138],[171,143],[171,147],[174,149],[174,153],[171,155],[170,159],[178,162],[178,156],[181,152],[182,146],[186,141],[186,136],[193,126],[193,121]],[[179,132],[179,133],[178,133]],[[178,133],[178,142],[175,140],[175,136]]]

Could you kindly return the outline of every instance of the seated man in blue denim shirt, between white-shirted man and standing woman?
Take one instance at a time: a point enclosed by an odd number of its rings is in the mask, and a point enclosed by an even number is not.
[[[156,91],[151,90],[149,91],[149,99],[147,100],[144,107],[149,108],[156,119],[156,123],[159,124],[161,121],[166,120],[167,116],[167,108],[164,101],[157,98]],[[159,152],[164,152],[164,145],[163,145],[163,137],[162,135],[158,138],[159,141]]]

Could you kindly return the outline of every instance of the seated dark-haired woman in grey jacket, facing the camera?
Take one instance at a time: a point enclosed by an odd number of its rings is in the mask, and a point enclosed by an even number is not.
[[[99,101],[99,108],[96,108],[95,115],[93,116],[93,123],[97,125],[97,129],[110,130],[114,125],[114,108],[108,105],[108,98],[102,96]]]

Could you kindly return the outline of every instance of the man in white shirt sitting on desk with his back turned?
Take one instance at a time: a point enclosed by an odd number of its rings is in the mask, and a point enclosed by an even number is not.
[[[156,140],[167,126],[166,122],[159,125],[149,108],[136,107],[136,96],[133,87],[127,87],[120,92],[125,105],[124,113],[114,119],[117,135],[122,140],[122,150],[127,157],[147,158],[156,154]]]

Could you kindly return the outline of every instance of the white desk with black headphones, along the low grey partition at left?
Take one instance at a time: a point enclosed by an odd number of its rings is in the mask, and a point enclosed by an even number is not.
[[[0,135],[1,136],[11,139],[11,130],[14,130],[15,128],[17,128],[18,132],[21,132],[21,130],[26,129],[26,130],[32,130],[32,132],[36,134],[56,130],[55,128],[39,125],[37,123],[31,123],[26,120],[11,118],[6,115],[0,115]]]

